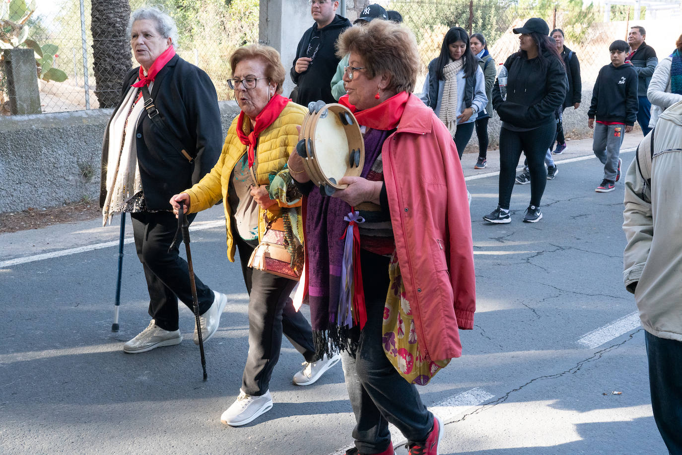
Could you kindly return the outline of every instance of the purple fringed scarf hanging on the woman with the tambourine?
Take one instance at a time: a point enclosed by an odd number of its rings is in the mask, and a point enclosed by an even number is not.
[[[383,130],[369,130],[365,134],[365,164],[361,177],[367,177],[389,134],[390,131]],[[348,226],[344,217],[351,211],[351,206],[341,199],[322,196],[313,189],[306,207],[308,301],[315,350],[318,355],[329,355],[340,349],[355,351],[349,346],[349,329],[338,324],[336,314],[344,250],[341,237]],[[325,267],[327,264],[329,267]]]

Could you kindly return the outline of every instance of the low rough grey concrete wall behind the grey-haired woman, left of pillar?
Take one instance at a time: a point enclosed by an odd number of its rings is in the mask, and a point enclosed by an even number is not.
[[[112,110],[0,118],[0,213],[97,200],[104,128]],[[223,135],[239,113],[220,102]],[[7,197],[9,196],[9,197]]]

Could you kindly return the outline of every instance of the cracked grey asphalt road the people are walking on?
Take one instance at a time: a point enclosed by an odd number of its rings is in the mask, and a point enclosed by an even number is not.
[[[628,137],[625,147],[637,142]],[[623,184],[594,192],[602,167],[589,153],[589,140],[572,141],[556,157],[568,162],[548,181],[536,224],[521,222],[530,186],[516,185],[505,225],[481,220],[496,206],[496,168],[473,171],[475,156],[464,157],[475,329],[462,332],[464,355],[420,388],[447,422],[443,454],[666,453],[651,413],[643,332],[622,282]],[[625,165],[633,157],[623,153]],[[248,299],[239,267],[226,259],[221,216],[222,207],[200,215],[191,235],[196,274],[229,298],[206,344],[207,382],[185,307],[179,346],[123,353],[121,344],[149,322],[131,243],[121,330],[110,331],[118,226],[94,220],[0,235],[0,452],[327,455],[352,444],[340,366],[297,387],[291,377],[303,359],[286,340],[270,386],[273,409],[241,428],[220,423],[248,351]],[[396,446],[404,442],[392,434]]]

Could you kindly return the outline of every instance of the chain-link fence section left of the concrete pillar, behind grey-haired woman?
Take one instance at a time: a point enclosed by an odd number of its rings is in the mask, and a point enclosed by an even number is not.
[[[258,40],[258,0],[161,0],[175,19],[177,53],[205,70],[218,99],[232,99],[228,55]],[[128,19],[141,0],[1,0],[0,46],[32,49],[40,113],[112,107],[132,58]],[[0,57],[0,113],[10,115],[10,94]]]

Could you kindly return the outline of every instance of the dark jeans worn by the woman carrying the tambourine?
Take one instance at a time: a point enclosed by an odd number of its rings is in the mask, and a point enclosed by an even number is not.
[[[355,358],[344,352],[342,362],[357,422],[355,447],[361,454],[377,454],[391,441],[389,422],[409,441],[421,442],[426,441],[434,417],[421,402],[417,387],[400,376],[383,350],[389,258],[362,250],[361,263],[367,323],[360,332]]]

